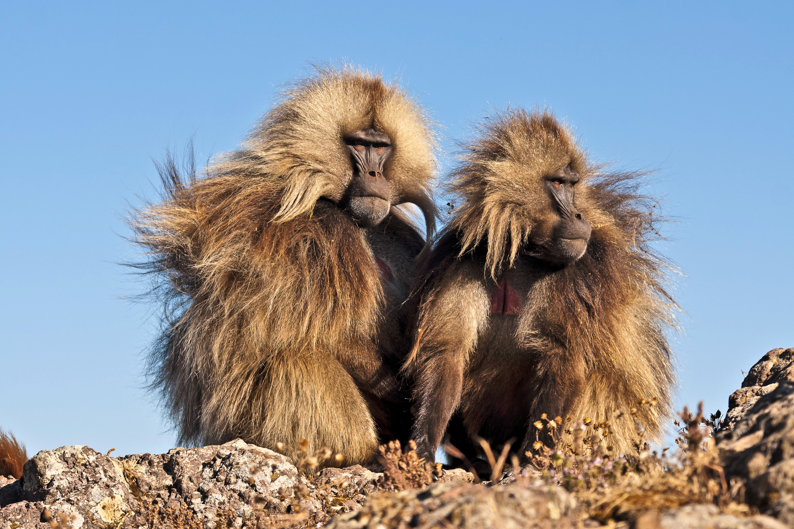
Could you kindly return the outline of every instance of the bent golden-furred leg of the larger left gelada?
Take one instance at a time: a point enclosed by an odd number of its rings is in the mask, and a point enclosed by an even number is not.
[[[375,424],[353,378],[331,355],[293,353],[272,358],[263,394],[265,446],[281,441],[294,456],[302,439],[310,453],[323,447],[342,454],[342,465],[372,462]],[[328,466],[330,462],[323,465]]]

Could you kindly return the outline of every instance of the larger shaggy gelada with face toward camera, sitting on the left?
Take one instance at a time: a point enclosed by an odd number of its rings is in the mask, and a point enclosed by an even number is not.
[[[326,68],[202,178],[161,165],[168,194],[133,228],[143,266],[167,280],[152,366],[180,442],[241,437],[295,455],[306,439],[353,465],[407,437],[395,375],[426,244],[397,206],[422,209],[432,235],[433,145],[397,86]]]

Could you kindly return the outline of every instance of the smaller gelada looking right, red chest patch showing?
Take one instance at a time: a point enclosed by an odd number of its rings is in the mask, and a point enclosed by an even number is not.
[[[468,458],[478,438],[525,457],[542,413],[604,420],[638,408],[657,439],[674,303],[647,243],[653,205],[636,192],[639,174],[599,171],[550,113],[508,111],[481,132],[449,183],[461,205],[419,272],[406,368],[420,454],[433,460],[448,431]],[[615,450],[630,450],[635,428],[612,420]]]

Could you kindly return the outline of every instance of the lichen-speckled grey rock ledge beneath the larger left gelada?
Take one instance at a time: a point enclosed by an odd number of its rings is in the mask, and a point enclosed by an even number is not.
[[[353,466],[310,480],[289,458],[240,439],[123,458],[61,447],[33,456],[19,481],[2,478],[0,529],[49,529],[49,519],[75,529],[139,527],[168,508],[187,512],[182,504],[210,529],[221,519],[234,527],[316,524],[359,509],[380,476]]]

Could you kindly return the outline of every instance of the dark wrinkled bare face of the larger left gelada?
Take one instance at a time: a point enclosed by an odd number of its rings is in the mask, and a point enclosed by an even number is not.
[[[376,226],[391,209],[389,182],[384,177],[384,165],[393,149],[391,139],[371,128],[347,136],[345,145],[353,163],[353,180],[340,206],[361,226]]]

